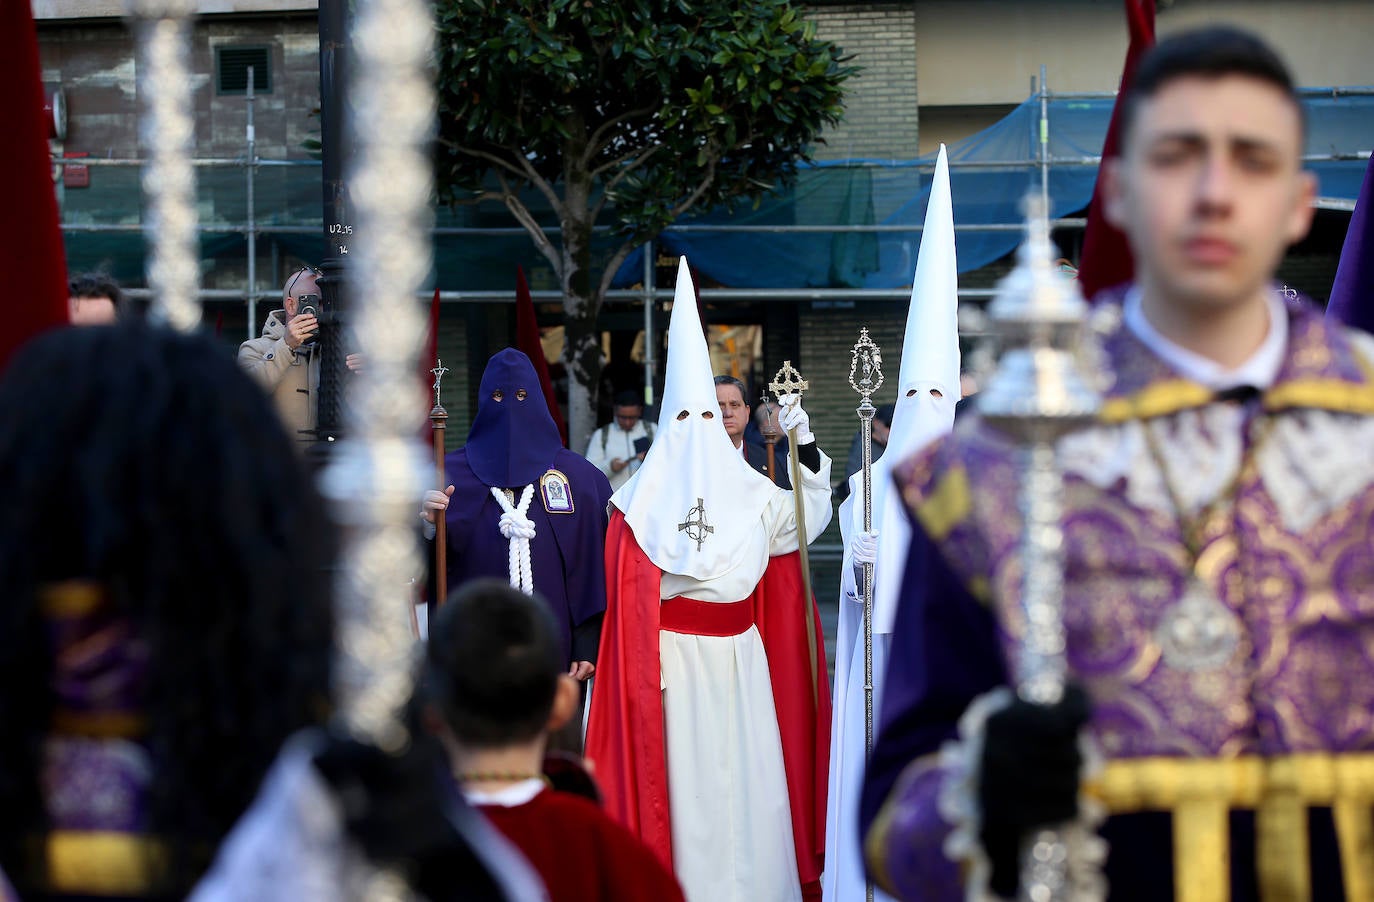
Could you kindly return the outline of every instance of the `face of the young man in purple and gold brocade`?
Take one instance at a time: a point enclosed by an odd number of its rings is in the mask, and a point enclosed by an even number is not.
[[[1150,302],[1206,312],[1259,297],[1312,221],[1301,151],[1293,102],[1257,78],[1180,77],[1143,99],[1103,175]]]

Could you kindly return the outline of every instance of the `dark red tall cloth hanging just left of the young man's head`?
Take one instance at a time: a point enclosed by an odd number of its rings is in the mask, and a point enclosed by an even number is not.
[[[1145,51],[1154,47],[1154,0],[1124,0],[1127,25],[1131,30],[1131,45],[1125,51],[1125,65],[1121,67],[1121,89],[1107,122],[1107,136],[1102,142],[1102,158],[1116,157],[1121,143],[1121,96],[1135,78],[1135,67]],[[1083,294],[1091,298],[1102,289],[1129,282],[1135,275],[1135,261],[1125,235],[1102,217],[1102,170],[1092,187],[1092,202],[1088,205],[1088,227],[1083,234],[1083,256],[1079,260],[1079,283]]]

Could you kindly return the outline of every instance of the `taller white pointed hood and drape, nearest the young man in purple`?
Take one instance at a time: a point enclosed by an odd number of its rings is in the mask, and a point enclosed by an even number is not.
[[[936,395],[938,392],[938,396]],[[954,249],[954,204],[944,144],[936,158],[921,232],[916,272],[911,279],[907,334],[901,344],[897,403],[888,447],[872,465],[872,527],[878,531],[874,573],[874,630],[892,632],[897,593],[907,564],[911,527],[901,513],[892,470],[954,426],[959,402],[959,268]],[[849,498],[840,509],[845,569],[851,572],[849,536],[863,531],[863,473],[849,477]],[[849,507],[845,509],[845,505]]]

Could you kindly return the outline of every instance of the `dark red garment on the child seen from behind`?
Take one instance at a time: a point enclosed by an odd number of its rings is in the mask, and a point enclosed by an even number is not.
[[[534,866],[550,902],[683,902],[649,848],[581,796],[543,789],[525,804],[477,807]]]

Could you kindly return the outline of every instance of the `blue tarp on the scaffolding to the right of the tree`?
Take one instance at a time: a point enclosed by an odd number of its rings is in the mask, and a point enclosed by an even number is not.
[[[1050,213],[1083,212],[1098,168],[1081,165],[1102,150],[1112,98],[1050,99],[1047,103]],[[1374,148],[1374,96],[1304,91],[1309,155],[1369,154]],[[1039,162],[987,164],[1039,158],[1040,99],[1030,98],[1006,118],[948,147],[949,190],[959,271],[984,267],[1021,242],[1018,231],[977,231],[970,226],[1015,224],[1028,191],[1039,190]],[[934,154],[911,162],[844,161],[805,166],[797,184],[757,209],[709,212],[684,226],[844,226],[911,227],[882,232],[709,232],[669,230],[658,241],[672,254],[687,254],[692,268],[732,287],[863,287],[911,285],[930,194]],[[1061,162],[1062,161],[1062,162]],[[1074,161],[1079,165],[1074,165]],[[960,162],[976,166],[960,168]],[[1364,161],[1309,164],[1325,198],[1353,201]],[[617,285],[640,276],[642,261],[621,268]]]

